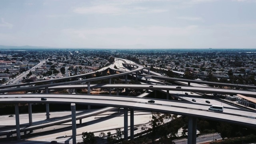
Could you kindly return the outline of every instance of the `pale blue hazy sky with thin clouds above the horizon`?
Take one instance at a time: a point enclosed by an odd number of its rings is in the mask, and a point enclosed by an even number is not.
[[[0,45],[256,48],[256,0],[0,0]]]

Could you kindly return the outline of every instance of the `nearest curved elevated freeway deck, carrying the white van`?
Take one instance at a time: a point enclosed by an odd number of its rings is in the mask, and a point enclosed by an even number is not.
[[[72,98],[64,94],[18,94],[5,95],[1,98],[0,103],[19,102],[19,103],[76,103],[100,106],[114,106],[121,108],[135,108],[138,110],[148,110],[155,112],[171,113],[185,116],[195,116],[212,120],[232,122],[246,126],[255,126],[255,112],[250,110],[240,110],[233,108],[224,108],[224,112],[208,110],[210,105],[194,104],[188,102],[163,101],[155,100],[156,103],[148,103],[150,99],[131,98],[126,96],[100,96],[100,95],[76,95]],[[16,97],[16,98],[13,98]],[[21,97],[21,98],[17,98]],[[47,101],[41,101],[40,97],[48,98]],[[140,101],[140,102],[139,102]]]

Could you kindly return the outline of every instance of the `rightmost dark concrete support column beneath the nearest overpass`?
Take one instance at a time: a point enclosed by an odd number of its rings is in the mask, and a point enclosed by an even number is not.
[[[188,144],[196,144],[196,118],[188,119]]]

